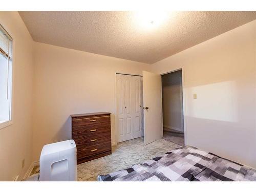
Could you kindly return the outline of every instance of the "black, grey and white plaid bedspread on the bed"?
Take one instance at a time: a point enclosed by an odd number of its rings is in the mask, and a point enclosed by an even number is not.
[[[183,145],[98,181],[256,181],[256,170]]]

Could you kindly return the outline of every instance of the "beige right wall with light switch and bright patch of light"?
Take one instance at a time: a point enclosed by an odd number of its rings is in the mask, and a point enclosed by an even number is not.
[[[153,64],[184,67],[188,145],[256,167],[255,55],[256,20]]]

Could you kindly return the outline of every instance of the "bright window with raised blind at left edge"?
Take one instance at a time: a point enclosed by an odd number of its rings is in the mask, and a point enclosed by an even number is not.
[[[0,129],[11,123],[12,38],[0,25]]]

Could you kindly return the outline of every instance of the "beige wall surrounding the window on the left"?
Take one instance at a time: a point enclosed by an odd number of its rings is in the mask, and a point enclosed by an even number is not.
[[[12,181],[32,163],[33,40],[16,11],[1,11],[0,24],[14,39],[13,124],[0,130],[0,181]]]

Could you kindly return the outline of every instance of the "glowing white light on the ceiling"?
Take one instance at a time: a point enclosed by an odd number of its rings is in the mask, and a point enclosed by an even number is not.
[[[156,29],[166,22],[168,18],[167,11],[145,10],[136,11],[134,14],[135,23],[143,30]]]

